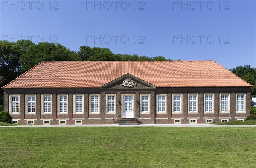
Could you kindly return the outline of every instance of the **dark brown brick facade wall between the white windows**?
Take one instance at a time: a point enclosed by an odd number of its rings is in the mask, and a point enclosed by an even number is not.
[[[118,83],[119,85],[119,83]],[[138,84],[140,85],[140,84]],[[113,86],[114,87],[114,86]],[[35,124],[43,124],[43,120],[51,120],[51,124],[59,124],[58,119],[66,119],[67,124],[75,124],[75,119],[81,119],[83,124],[111,124],[115,120],[113,117],[121,114],[122,104],[121,95],[125,93],[135,94],[134,109],[135,118],[143,123],[173,123],[175,118],[180,118],[181,123],[189,123],[190,118],[196,118],[197,123],[205,123],[206,118],[212,118],[213,122],[220,122],[221,118],[228,118],[229,120],[237,120],[237,118],[245,118],[250,115],[250,99],[251,89],[248,87],[184,87],[184,88],[150,88],[145,89],[145,85],[141,85],[141,89],[137,88],[6,88],[4,89],[4,111],[9,111],[9,95],[20,95],[20,114],[12,115],[13,119],[19,119],[19,124],[26,124],[29,119],[36,119]],[[106,114],[105,95],[108,93],[116,94],[116,114]],[[140,113],[140,94],[150,94],[150,114]],[[172,113],[172,94],[182,93],[182,113]],[[214,97],[214,113],[204,113],[204,93],[213,93]],[[219,109],[219,94],[230,94],[230,113],[222,114]],[[246,113],[236,113],[236,93],[246,93]],[[25,111],[25,95],[36,95],[36,113],[27,114]],[[41,94],[52,95],[52,114],[42,114],[41,112]],[[57,112],[57,95],[68,95],[68,114],[58,114]],[[84,114],[73,113],[73,94],[84,95]],[[89,113],[89,94],[100,94],[100,114]],[[156,94],[167,94],[166,114],[158,114],[156,112]],[[191,114],[188,112],[188,94],[198,94],[198,113]],[[137,102],[138,101],[138,102]],[[118,120],[121,116],[117,117]]]

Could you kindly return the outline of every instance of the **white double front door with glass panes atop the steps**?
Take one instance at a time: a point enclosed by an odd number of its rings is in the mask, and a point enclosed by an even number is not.
[[[123,96],[123,118],[134,118],[133,95]]]

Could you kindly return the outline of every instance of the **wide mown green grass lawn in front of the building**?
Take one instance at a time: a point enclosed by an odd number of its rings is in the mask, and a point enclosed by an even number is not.
[[[0,167],[255,168],[256,127],[0,127]]]

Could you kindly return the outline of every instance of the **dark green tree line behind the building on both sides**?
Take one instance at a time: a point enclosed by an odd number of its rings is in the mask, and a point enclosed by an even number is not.
[[[180,60],[180,59],[178,59]],[[109,48],[80,46],[78,52],[57,43],[30,40],[0,41],[0,86],[6,85],[42,61],[172,61],[164,56],[148,57],[137,54],[114,54]],[[256,68],[238,66],[230,71],[256,86]],[[253,94],[256,97],[256,87]],[[3,108],[3,91],[0,94],[0,111]]]

